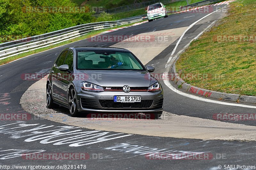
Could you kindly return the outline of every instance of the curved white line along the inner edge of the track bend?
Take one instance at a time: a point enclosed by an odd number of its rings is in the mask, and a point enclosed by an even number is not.
[[[217,11],[219,11],[219,10],[217,10]],[[214,11],[214,12],[216,12],[216,11]],[[214,12],[212,12],[212,13],[214,13]],[[204,16],[203,18],[197,20],[196,22],[194,22],[194,23],[192,24],[192,26],[195,25],[197,22],[201,21],[202,19],[208,17],[208,16],[211,15],[212,13],[210,13],[210,14]],[[212,23],[212,24],[213,24],[213,23]],[[212,24],[211,24],[211,25],[212,25]],[[206,29],[208,29],[211,25],[209,25]],[[200,32],[194,39],[192,39],[186,46],[184,46],[183,49],[180,50],[180,51],[176,54],[176,56],[172,59],[172,56],[173,56],[173,54],[175,53],[175,51],[176,51],[176,49],[177,49],[177,46],[178,46],[179,43],[180,43],[180,40],[181,40],[182,37],[185,35],[185,33],[189,30],[189,28],[191,28],[192,26],[190,25],[190,26],[188,27],[188,29],[182,34],[182,36],[180,37],[179,41],[177,42],[175,48],[173,49],[174,52],[172,52],[172,54],[171,54],[171,56],[170,56],[170,58],[169,58],[169,60],[168,60],[168,62],[167,62],[167,64],[166,64],[166,66],[165,66],[165,67],[166,67],[166,70],[165,70],[165,72],[164,72],[164,74],[163,74],[163,77],[164,77],[165,75],[168,75],[172,63],[173,63],[173,62],[175,61],[175,59],[180,55],[180,53],[182,53],[183,50],[184,50],[185,48],[187,48],[187,47],[190,45],[190,43],[191,43],[192,41],[194,41],[195,39],[197,39],[198,37],[200,37],[200,36],[204,33],[204,31]],[[188,93],[184,93],[184,92],[182,92],[182,91],[177,90],[176,88],[174,88],[174,87],[171,85],[171,83],[170,83],[168,80],[166,80],[166,79],[164,79],[164,84],[165,84],[168,88],[170,88],[172,91],[174,91],[175,93],[177,93],[177,94],[179,94],[179,95],[181,95],[181,96],[189,97],[189,98],[191,98],[191,99],[195,99],[195,100],[199,100],[199,101],[203,101],[203,102],[215,103],[215,104],[222,104],[222,105],[238,106],[238,107],[245,107],[245,108],[253,108],[253,109],[256,109],[256,106],[250,106],[250,105],[244,105],[244,104],[237,104],[237,103],[227,103],[227,102],[211,100],[211,99],[207,99],[207,98],[203,98],[203,97],[199,97],[199,96],[194,96],[194,95],[191,95],[191,94],[188,94]]]

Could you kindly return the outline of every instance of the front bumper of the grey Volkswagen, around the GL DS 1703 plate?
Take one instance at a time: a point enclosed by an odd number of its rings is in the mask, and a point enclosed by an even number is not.
[[[152,113],[163,111],[163,91],[129,92],[104,91],[89,92],[76,87],[77,109],[79,111],[108,113]],[[114,103],[114,96],[141,96],[140,103]]]

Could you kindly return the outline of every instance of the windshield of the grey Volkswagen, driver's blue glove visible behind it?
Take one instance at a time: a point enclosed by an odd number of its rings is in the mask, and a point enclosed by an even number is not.
[[[115,51],[78,51],[76,67],[85,70],[144,70],[132,53]]]

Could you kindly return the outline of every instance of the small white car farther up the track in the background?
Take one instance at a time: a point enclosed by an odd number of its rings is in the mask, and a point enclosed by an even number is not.
[[[156,3],[156,4],[149,5],[148,10],[145,11],[145,12],[147,12],[148,22],[150,22],[156,18],[168,17],[167,10],[165,7],[166,6],[162,3]]]

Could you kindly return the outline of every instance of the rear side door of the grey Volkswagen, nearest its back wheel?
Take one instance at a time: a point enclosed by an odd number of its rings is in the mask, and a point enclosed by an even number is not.
[[[59,66],[64,64],[67,54],[68,50],[63,51],[52,68],[52,97],[59,102],[62,102],[62,94],[59,87],[61,78]]]

